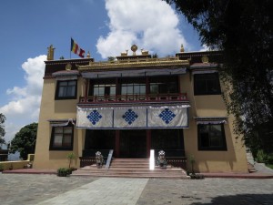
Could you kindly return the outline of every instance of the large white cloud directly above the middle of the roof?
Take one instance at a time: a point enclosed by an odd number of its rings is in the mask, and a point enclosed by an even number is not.
[[[177,53],[181,44],[187,46],[177,28],[178,16],[165,1],[106,0],[106,10],[110,33],[96,44],[103,58],[119,56],[133,44],[159,56]]]

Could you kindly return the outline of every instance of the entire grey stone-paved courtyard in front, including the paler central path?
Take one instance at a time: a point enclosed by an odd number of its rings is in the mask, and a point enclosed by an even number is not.
[[[0,174],[1,205],[273,204],[273,179],[115,179]]]

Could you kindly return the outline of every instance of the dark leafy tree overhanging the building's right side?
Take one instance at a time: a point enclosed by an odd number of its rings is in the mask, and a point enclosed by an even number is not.
[[[235,133],[250,149],[272,152],[273,1],[166,1],[187,17],[202,44],[223,51],[219,71],[225,85],[232,86],[226,102],[236,117]]]

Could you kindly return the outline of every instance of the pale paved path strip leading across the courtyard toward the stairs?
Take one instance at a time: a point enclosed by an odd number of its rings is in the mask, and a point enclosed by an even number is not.
[[[69,190],[39,205],[83,204],[83,205],[135,205],[148,179],[102,178],[92,183]]]

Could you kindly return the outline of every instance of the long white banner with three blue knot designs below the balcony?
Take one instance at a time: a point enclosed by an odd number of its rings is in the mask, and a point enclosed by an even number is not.
[[[188,128],[187,107],[77,108],[77,128]]]

